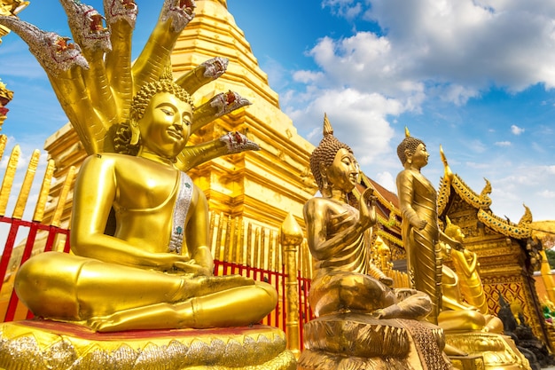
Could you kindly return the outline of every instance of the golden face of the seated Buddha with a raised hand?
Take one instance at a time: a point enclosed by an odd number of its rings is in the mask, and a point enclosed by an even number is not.
[[[358,162],[355,156],[347,149],[341,148],[335,154],[332,165],[327,169],[328,184],[334,189],[349,193],[358,182],[358,173]]]

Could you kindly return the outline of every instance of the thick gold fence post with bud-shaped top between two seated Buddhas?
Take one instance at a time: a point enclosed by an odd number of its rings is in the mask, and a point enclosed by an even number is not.
[[[299,283],[297,282],[297,251],[302,242],[301,226],[293,214],[285,217],[281,225],[281,245],[285,264],[285,335],[287,349],[295,358],[301,355],[299,334]]]

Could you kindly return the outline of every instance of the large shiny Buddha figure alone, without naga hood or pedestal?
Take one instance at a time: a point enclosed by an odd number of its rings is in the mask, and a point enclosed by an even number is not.
[[[73,254],[34,256],[16,278],[17,294],[35,316],[121,331],[245,326],[275,308],[269,284],[212,276],[206,197],[174,165],[191,134],[192,111],[189,94],[171,79],[149,83],[131,106],[129,146],[138,154],[83,162]],[[113,236],[105,234],[111,209]]]

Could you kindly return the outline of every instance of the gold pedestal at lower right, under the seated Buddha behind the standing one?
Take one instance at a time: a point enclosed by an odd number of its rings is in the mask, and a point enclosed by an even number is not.
[[[481,356],[486,370],[530,370],[528,359],[507,335],[446,332],[445,341],[458,350],[465,351],[469,357]]]

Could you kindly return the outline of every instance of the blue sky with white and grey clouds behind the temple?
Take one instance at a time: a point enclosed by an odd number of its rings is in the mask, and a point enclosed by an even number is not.
[[[162,1],[136,2],[137,54]],[[518,222],[525,203],[535,220],[555,220],[555,2],[228,0],[228,8],[282,110],[313,144],[326,112],[364,173],[395,191],[407,126],[426,142],[423,173],[434,184],[442,145],[474,191],[489,179],[496,215]],[[20,18],[69,35],[55,0],[31,0]],[[0,45],[0,78],[15,91],[2,133],[30,156],[65,115],[13,33]]]

